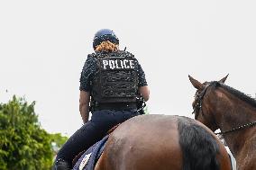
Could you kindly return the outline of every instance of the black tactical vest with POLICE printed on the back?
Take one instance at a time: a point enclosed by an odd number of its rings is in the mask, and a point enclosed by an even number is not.
[[[98,72],[92,82],[96,103],[136,103],[138,94],[137,61],[133,57],[97,58]]]

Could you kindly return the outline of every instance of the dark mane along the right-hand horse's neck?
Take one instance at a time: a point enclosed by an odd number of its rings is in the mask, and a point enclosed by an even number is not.
[[[251,96],[247,95],[247,94],[243,94],[242,92],[240,92],[239,90],[234,89],[231,86],[228,85],[224,85],[224,84],[219,84],[221,87],[224,88],[224,90],[228,91],[229,93],[235,95],[236,97],[238,97],[239,99],[241,99],[242,101],[244,101],[245,103],[249,103],[251,104],[251,106],[256,107],[256,100],[251,98]]]

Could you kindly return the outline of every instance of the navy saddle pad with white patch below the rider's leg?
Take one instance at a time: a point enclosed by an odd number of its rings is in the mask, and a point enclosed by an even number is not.
[[[87,151],[78,159],[78,162],[73,167],[73,170],[94,170],[98,158],[101,156],[108,135],[104,139],[96,142],[92,147],[88,148]]]

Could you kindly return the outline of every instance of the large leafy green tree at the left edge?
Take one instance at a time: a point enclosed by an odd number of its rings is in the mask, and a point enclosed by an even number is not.
[[[41,129],[34,104],[15,96],[0,103],[0,170],[50,169],[52,138]]]

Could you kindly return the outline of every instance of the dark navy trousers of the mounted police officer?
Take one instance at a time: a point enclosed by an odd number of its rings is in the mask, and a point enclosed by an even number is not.
[[[122,123],[133,116],[139,115],[136,110],[133,111],[112,111],[102,110],[93,112],[90,121],[87,121],[79,130],[77,130],[60,148],[56,160],[64,159],[72,165],[72,160],[83,150],[91,147],[96,141],[103,139],[108,130],[111,130],[118,123]]]

